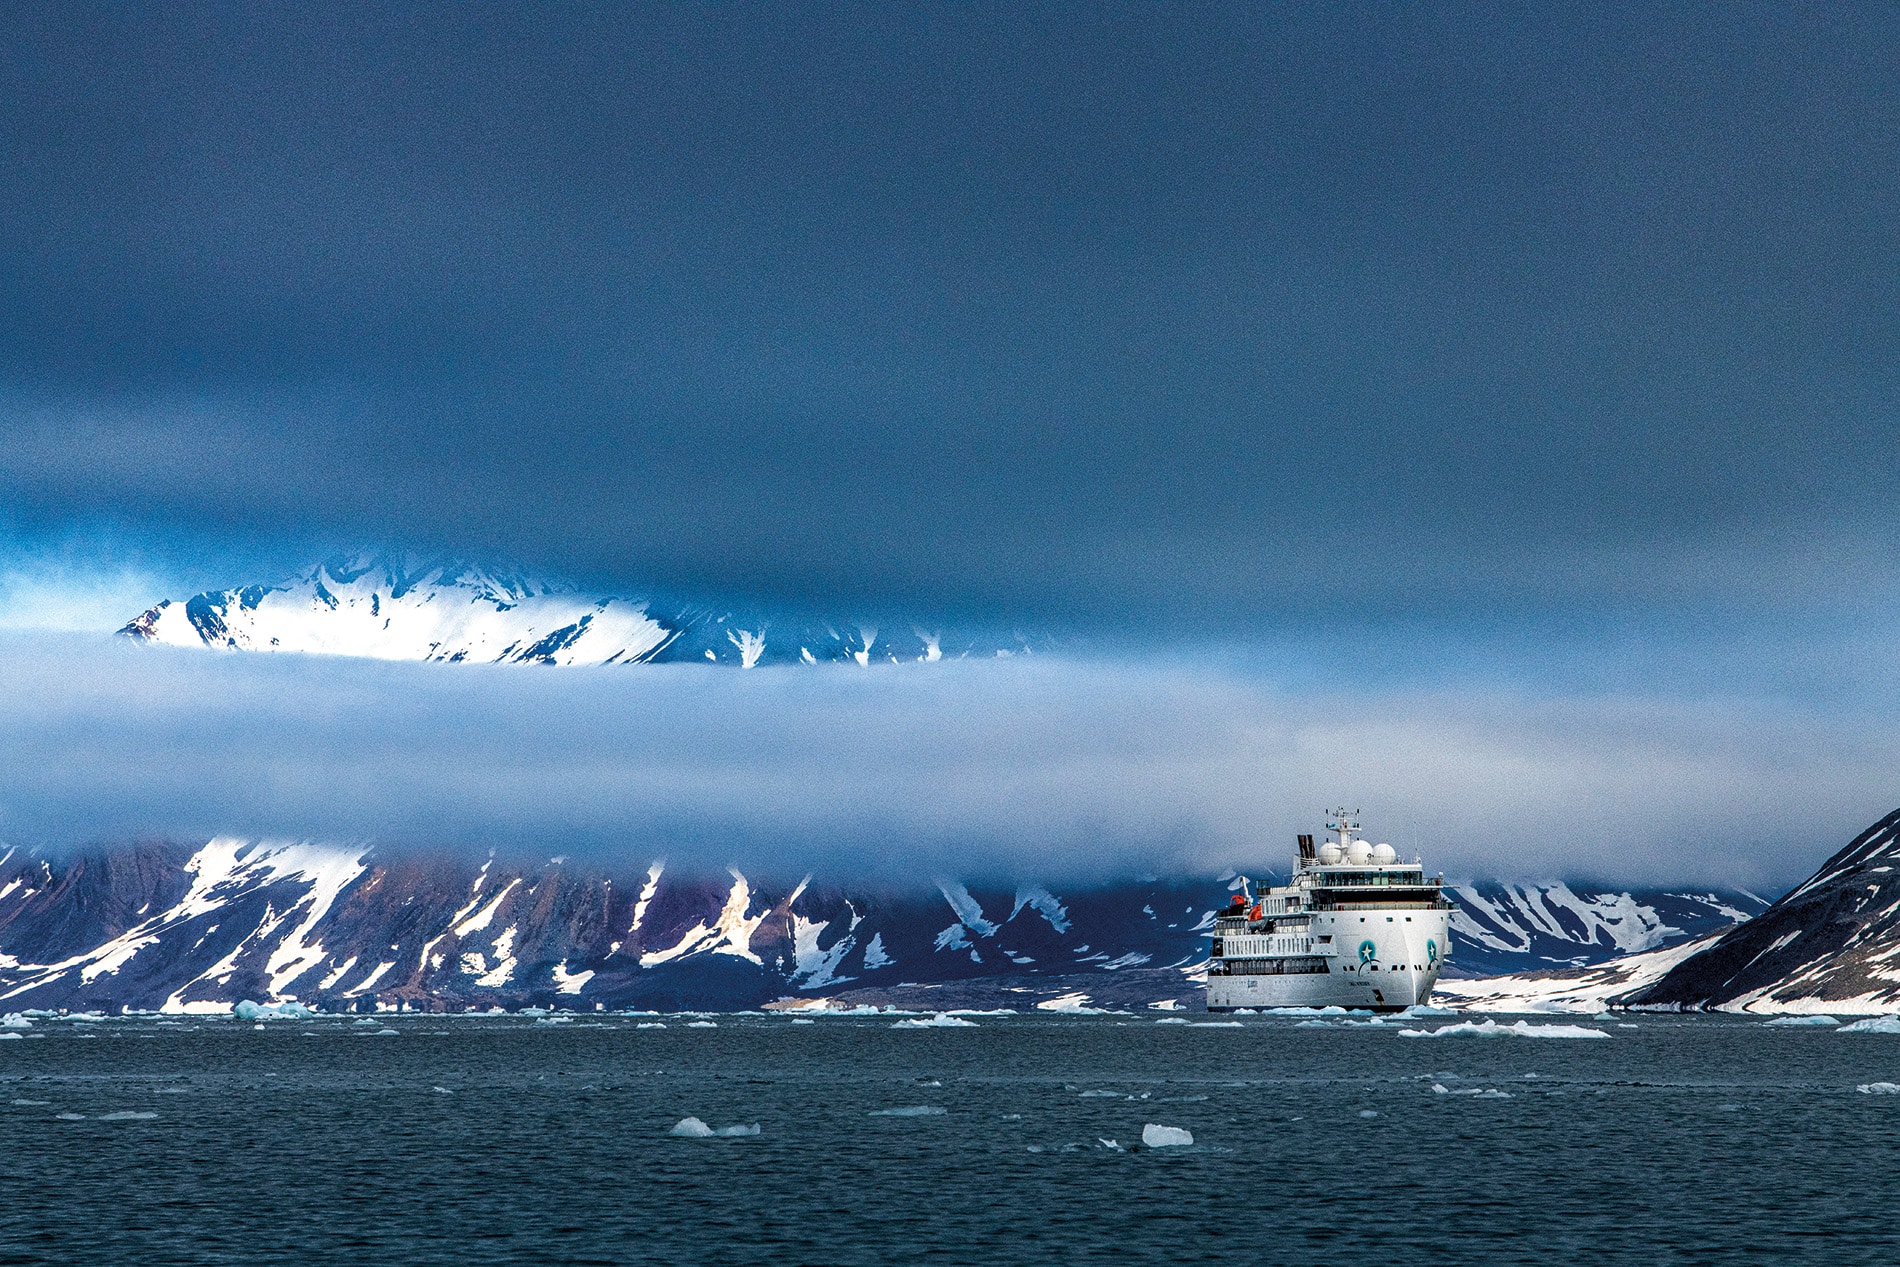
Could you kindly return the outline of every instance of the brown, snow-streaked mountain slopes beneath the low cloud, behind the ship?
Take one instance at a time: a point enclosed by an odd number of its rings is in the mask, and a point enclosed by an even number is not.
[[[218,838],[65,859],[0,857],[0,1011],[568,1005],[724,1009],[868,988],[1016,992],[1024,999],[1199,999],[1212,912],[1235,881],[1140,879],[1056,893],[958,879],[874,889],[804,878],[616,870],[454,855],[382,855]],[[1501,893],[1480,885],[1474,893]],[[1617,952],[1606,925],[1685,940],[1659,895],[1514,885],[1509,921],[1547,919],[1531,950],[1454,931],[1452,963],[1535,967]],[[1666,897],[1666,895],[1662,895]],[[1566,919],[1575,906],[1600,917]],[[1497,900],[1492,908],[1503,912]],[[1738,914],[1712,900],[1706,921]],[[1604,917],[1602,912],[1626,912]],[[1554,929],[1554,931],[1552,931]],[[1697,927],[1693,931],[1706,931]],[[942,1003],[950,1005],[950,1003]]]

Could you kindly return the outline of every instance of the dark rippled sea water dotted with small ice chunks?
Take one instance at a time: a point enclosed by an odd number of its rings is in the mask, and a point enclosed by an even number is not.
[[[40,1020],[0,1041],[0,1259],[1900,1261],[1900,1096],[1856,1090],[1900,1035],[638,1020]]]

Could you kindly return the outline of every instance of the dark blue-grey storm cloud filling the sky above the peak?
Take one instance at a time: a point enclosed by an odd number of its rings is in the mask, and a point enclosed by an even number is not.
[[[1890,587],[1887,9],[8,21],[21,532],[1108,623]]]

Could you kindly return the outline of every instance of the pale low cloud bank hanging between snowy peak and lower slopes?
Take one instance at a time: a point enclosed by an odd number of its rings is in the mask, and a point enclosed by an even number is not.
[[[0,636],[0,838],[215,832],[897,878],[1284,868],[1773,889],[1900,802],[1872,720],[1165,663],[498,669]]]

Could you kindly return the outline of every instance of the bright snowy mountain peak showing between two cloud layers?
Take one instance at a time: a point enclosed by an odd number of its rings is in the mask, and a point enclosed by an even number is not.
[[[515,665],[935,661],[1030,640],[608,598],[458,562],[338,558],[277,585],[167,598],[120,633],[171,646]]]

